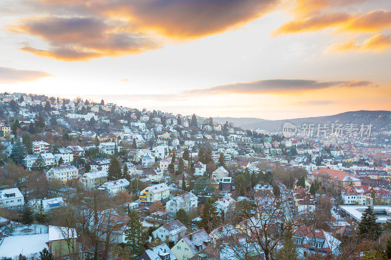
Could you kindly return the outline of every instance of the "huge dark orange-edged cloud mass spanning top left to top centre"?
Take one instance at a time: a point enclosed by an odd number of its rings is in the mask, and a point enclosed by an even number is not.
[[[279,2],[33,0],[29,4],[36,12],[52,16],[28,18],[8,26],[8,30],[39,37],[49,44],[46,49],[26,45],[22,51],[57,60],[90,60],[154,50],[170,38],[195,39],[223,32],[260,17]]]

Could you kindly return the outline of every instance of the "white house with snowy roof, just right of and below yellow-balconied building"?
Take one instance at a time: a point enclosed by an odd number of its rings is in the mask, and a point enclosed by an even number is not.
[[[174,197],[167,201],[166,209],[171,218],[175,217],[176,212],[179,209],[183,209],[186,213],[191,213],[198,206],[198,197],[193,192],[187,192]]]

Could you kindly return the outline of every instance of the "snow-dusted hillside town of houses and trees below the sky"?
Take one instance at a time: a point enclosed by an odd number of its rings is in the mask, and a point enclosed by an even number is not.
[[[2,93],[0,120],[0,260],[391,254],[390,116],[287,137]]]

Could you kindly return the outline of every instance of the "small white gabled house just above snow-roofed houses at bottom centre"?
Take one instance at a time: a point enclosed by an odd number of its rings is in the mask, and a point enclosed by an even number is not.
[[[186,232],[187,228],[179,220],[174,220],[153,231],[152,237],[154,239],[159,238],[161,241],[174,241],[176,243],[186,235]]]

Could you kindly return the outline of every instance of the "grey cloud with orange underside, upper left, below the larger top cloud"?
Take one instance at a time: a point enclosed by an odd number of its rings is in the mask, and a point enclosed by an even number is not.
[[[46,40],[47,50],[25,46],[21,50],[58,60],[90,60],[123,53],[140,53],[158,47],[158,43],[126,28],[95,18],[43,17],[24,20],[10,27],[13,32],[27,33]]]

